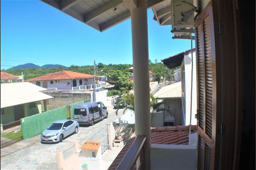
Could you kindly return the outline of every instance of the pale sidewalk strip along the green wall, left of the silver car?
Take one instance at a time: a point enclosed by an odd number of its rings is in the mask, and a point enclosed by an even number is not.
[[[13,145],[7,146],[5,148],[1,148],[1,157],[5,155],[13,154],[14,152],[22,150],[23,148],[29,147],[31,145],[34,145],[35,143],[38,143],[40,141],[41,139],[39,134],[30,139],[22,140],[14,143]]]

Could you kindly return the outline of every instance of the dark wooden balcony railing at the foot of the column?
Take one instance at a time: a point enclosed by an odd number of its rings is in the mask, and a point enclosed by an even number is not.
[[[146,136],[138,135],[117,169],[134,169],[135,164],[137,166],[136,169],[144,169],[143,149],[145,141]]]

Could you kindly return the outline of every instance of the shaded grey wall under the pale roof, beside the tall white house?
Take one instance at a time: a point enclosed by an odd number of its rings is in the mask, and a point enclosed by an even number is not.
[[[173,109],[174,113],[172,116],[175,118],[175,126],[184,124],[181,99],[164,99],[164,107],[165,109]]]

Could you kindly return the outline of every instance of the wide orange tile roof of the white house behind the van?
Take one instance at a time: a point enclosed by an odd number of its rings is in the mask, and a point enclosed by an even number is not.
[[[43,80],[71,80],[71,79],[86,79],[93,78],[93,75],[77,73],[74,71],[59,71],[56,73],[50,73],[42,76],[38,76],[36,78],[27,79],[26,82],[35,82],[35,81],[43,81]]]

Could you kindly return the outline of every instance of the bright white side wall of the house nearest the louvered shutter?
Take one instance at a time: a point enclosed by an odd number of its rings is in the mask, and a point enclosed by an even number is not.
[[[191,110],[191,53],[184,56],[185,67],[185,125],[189,125]],[[192,120],[191,124],[196,125],[195,118],[197,109],[197,83],[196,83],[196,52],[193,52],[193,82],[192,82]]]

